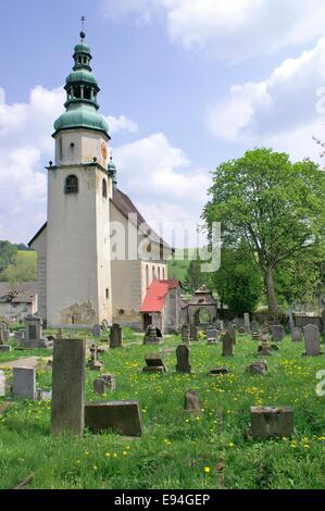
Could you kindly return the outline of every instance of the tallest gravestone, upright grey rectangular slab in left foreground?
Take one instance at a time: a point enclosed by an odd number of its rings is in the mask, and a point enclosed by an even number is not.
[[[83,435],[85,427],[85,339],[55,339],[52,370],[52,434]]]

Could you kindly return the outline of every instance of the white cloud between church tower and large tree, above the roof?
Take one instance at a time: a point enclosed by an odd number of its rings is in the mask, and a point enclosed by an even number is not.
[[[162,133],[124,145],[114,151],[117,182],[134,200],[147,222],[172,241],[172,227],[178,223],[196,242],[207,190],[208,171],[193,170],[186,154],[171,145]],[[182,246],[182,244],[180,244]]]

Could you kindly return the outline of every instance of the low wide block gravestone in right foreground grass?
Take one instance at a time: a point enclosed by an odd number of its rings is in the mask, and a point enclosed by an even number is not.
[[[251,408],[251,433],[254,438],[290,437],[293,428],[291,407]]]

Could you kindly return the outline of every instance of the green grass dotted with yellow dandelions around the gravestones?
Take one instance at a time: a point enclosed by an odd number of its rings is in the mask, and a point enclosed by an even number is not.
[[[325,398],[315,391],[316,373],[325,370],[325,358],[303,358],[303,344],[286,338],[280,351],[267,360],[270,374],[249,376],[245,366],[258,360],[257,345],[241,337],[235,357],[227,359],[221,357],[220,346],[193,344],[193,375],[175,374],[174,351],[163,354],[168,366],[165,375],[148,375],[141,373],[145,354],[174,350],[179,337],[167,337],[158,348],[136,344],[141,339],[132,331],[126,337],[123,350],[101,357],[105,372],[117,381],[116,390],[103,399],[138,399],[142,437],[130,440],[111,433],[86,433],[82,438],[54,438],[49,401],[15,401],[0,412],[0,488],[13,488],[32,472],[35,478],[29,488],[325,488]],[[1,353],[0,363],[12,358],[13,353]],[[230,373],[208,376],[217,365],[229,367]],[[88,400],[98,399],[92,391],[97,376],[87,370]],[[50,388],[51,372],[37,371],[37,383]],[[203,401],[200,420],[183,410],[189,388]],[[0,410],[7,400],[0,398]],[[259,404],[291,404],[293,437],[250,439],[250,407]]]

